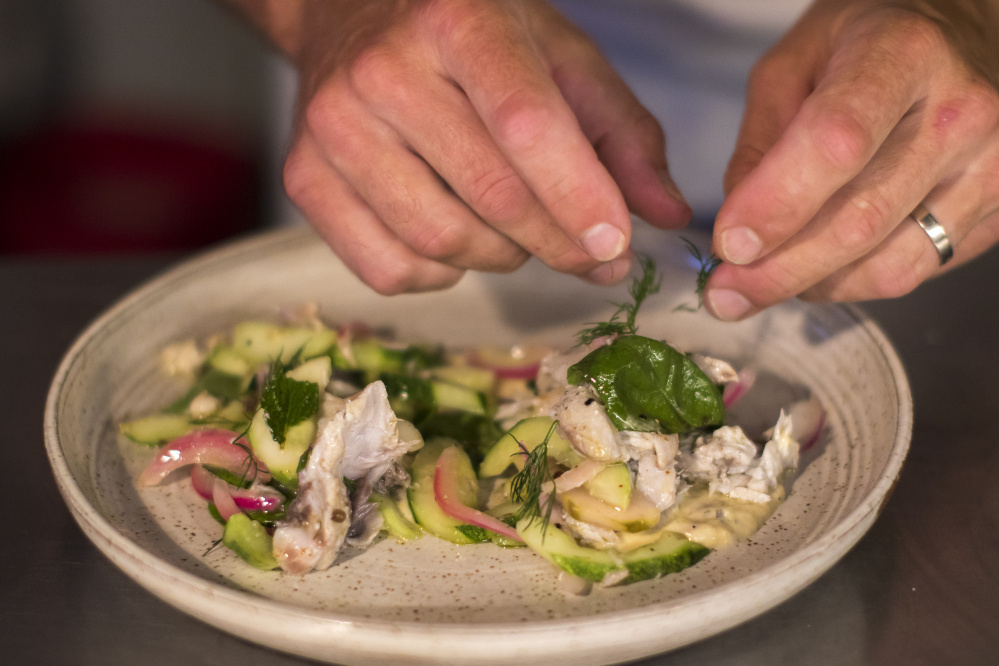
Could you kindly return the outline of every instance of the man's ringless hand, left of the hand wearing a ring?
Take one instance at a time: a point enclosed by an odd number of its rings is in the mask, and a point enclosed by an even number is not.
[[[530,255],[616,282],[629,208],[662,228],[689,218],[657,122],[543,2],[235,4],[301,75],[289,195],[380,293]]]

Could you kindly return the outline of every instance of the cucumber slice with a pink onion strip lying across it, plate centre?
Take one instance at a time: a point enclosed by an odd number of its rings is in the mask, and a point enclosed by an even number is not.
[[[437,468],[437,459],[444,449],[454,445],[454,440],[437,437],[428,441],[417,452],[416,458],[413,459],[413,481],[407,490],[409,507],[416,522],[434,536],[451,543],[476,543],[478,539],[459,529],[471,526],[464,525],[444,513],[434,497],[434,471]],[[462,454],[464,455],[464,452]],[[475,506],[478,502],[478,480],[467,456],[464,462],[466,465],[461,466],[462,483],[459,484],[462,488],[461,500],[467,501],[469,506]]]

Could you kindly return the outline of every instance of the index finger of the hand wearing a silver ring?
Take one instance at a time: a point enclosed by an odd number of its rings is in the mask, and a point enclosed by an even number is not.
[[[715,249],[724,260],[756,261],[803,228],[919,100],[925,57],[900,32],[879,24],[841,39],[818,87],[722,205]]]

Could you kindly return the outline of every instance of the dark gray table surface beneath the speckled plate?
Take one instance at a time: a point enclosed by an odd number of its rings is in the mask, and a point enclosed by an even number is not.
[[[75,336],[172,257],[0,258],[5,479],[0,660],[293,664],[174,610],[77,527],[45,457],[49,382]],[[865,309],[915,398],[912,449],[873,529],[768,613],[642,664],[999,664],[999,253]]]

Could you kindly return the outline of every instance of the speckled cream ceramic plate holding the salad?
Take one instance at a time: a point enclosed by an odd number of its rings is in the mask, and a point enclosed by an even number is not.
[[[179,392],[156,372],[164,345],[316,301],[331,322],[389,325],[406,340],[566,346],[581,324],[613,311],[608,299],[625,296],[536,264],[468,275],[443,293],[382,298],[304,229],[188,262],[108,311],[66,356],[45,415],[56,479],[87,535],[153,594],[314,659],[597,664],[710,636],[802,589],[871,526],[908,448],[912,401],[898,357],[860,311],[789,303],[734,325],[677,313],[693,300],[696,270],[679,242],[659,245],[663,290],[642,310],[643,334],[759,368],[735,414],[749,429],[809,392],[828,411],[822,441],[773,518],[680,574],[569,598],[529,551],[430,537],[384,540],[307,576],[260,572],[224,549],[205,554],[219,529],[186,480],[135,487],[151,452],[122,440],[116,422]]]

